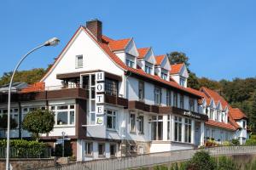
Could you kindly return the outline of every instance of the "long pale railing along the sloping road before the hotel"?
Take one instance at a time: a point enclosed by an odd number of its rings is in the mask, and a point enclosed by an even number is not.
[[[211,156],[229,156],[256,154],[256,146],[224,146],[206,150]],[[175,150],[169,152],[151,153],[139,156],[130,156],[96,161],[82,161],[60,167],[43,167],[44,170],[120,170],[136,167],[149,167],[155,164],[164,164],[176,161],[186,161],[194,156],[198,150]]]

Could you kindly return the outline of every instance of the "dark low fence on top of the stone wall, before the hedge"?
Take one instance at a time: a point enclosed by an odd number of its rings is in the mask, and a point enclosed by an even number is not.
[[[6,148],[0,147],[0,158],[5,158]],[[49,158],[51,157],[51,148],[34,150],[33,148],[10,148],[10,158]]]

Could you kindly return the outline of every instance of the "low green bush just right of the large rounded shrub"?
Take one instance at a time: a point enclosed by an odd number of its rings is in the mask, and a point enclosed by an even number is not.
[[[239,167],[231,158],[227,156],[220,156],[217,159],[218,159],[217,170],[239,170]]]

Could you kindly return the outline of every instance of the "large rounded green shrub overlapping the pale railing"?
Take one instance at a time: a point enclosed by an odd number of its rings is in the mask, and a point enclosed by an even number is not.
[[[204,150],[196,152],[186,166],[189,170],[214,170],[215,168],[212,157]]]

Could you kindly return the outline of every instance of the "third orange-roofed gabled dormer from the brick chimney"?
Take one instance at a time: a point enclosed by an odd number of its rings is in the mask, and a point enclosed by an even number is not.
[[[165,79],[167,81],[170,80],[169,71],[171,70],[171,65],[169,59],[166,54],[155,56],[155,66],[154,66],[154,74]]]

